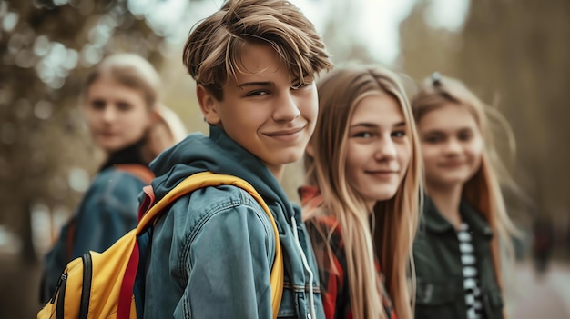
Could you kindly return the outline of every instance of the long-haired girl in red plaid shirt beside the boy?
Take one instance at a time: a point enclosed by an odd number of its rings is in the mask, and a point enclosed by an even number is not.
[[[406,267],[420,160],[399,76],[337,68],[318,85],[319,117],[300,188],[327,318],[412,318]]]

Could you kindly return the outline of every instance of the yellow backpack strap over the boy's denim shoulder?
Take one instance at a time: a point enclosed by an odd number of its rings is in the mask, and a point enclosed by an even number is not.
[[[179,197],[191,193],[198,188],[220,186],[224,184],[234,185],[247,191],[261,205],[265,213],[270,218],[270,222],[273,227],[273,234],[275,234],[275,259],[273,261],[270,274],[271,305],[273,308],[273,318],[277,318],[283,294],[283,254],[281,252],[280,235],[270,208],[265,201],[263,201],[261,195],[248,182],[239,177],[226,174],[213,174],[211,172],[192,174],[168,192],[168,194],[160,199],[158,203],[153,204],[150,209],[148,209],[148,212],[142,216],[138,223],[137,234],[144,232],[144,230],[153,223],[158,215],[161,212],[166,211],[165,208]]]

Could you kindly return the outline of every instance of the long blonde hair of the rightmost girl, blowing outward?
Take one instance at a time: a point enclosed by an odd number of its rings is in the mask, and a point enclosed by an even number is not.
[[[508,171],[494,147],[490,120],[504,126],[513,152],[514,135],[503,115],[494,108],[485,105],[461,81],[437,73],[423,80],[420,91],[412,99],[412,112],[416,122],[419,123],[424,115],[449,103],[466,107],[473,115],[479,131],[483,135],[484,147],[481,166],[473,174],[473,177],[463,185],[462,196],[483,215],[494,233],[499,234],[494,236],[491,241],[491,251],[497,283],[499,287],[503,288],[500,258],[503,254],[500,244],[504,243],[507,248],[512,250],[509,234],[517,234],[518,232],[506,212],[499,177],[509,184],[514,182],[508,175]],[[499,176],[497,173],[502,175]]]

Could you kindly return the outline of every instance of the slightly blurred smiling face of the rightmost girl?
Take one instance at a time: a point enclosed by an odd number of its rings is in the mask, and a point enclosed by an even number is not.
[[[465,184],[481,166],[483,137],[467,107],[449,103],[418,123],[428,186]]]

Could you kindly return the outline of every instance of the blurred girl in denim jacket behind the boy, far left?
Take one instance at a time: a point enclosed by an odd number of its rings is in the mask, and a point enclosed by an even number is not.
[[[109,55],[87,75],[80,107],[105,160],[46,255],[43,303],[66,263],[106,250],[137,225],[138,194],[153,177],[148,164],[186,135],[178,116],[160,103],[159,89],[157,71],[139,55]]]

